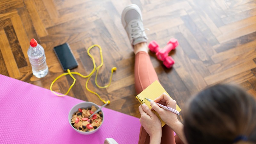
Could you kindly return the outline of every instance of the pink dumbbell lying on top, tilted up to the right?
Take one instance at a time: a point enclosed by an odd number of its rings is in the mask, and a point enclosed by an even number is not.
[[[164,47],[164,49],[159,49],[156,52],[157,59],[164,61],[166,57],[168,57],[169,52],[171,50],[174,50],[179,45],[177,39],[171,38],[169,42],[167,42],[167,45]]]

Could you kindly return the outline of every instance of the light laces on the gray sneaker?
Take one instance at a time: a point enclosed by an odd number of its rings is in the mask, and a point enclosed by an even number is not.
[[[149,30],[148,28],[141,29],[139,22],[133,21],[131,23],[131,38],[132,40],[137,39],[139,37],[144,37],[147,39],[147,37],[143,34],[145,30]]]

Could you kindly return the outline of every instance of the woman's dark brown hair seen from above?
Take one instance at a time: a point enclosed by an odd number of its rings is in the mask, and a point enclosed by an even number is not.
[[[256,101],[240,87],[217,84],[206,88],[184,112],[189,144],[232,144],[238,136],[256,143]]]

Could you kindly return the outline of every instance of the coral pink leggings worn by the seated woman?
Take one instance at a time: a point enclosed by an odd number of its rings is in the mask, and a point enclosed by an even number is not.
[[[156,71],[150,61],[150,57],[148,53],[144,51],[140,51],[135,55],[134,77],[137,94],[142,92],[155,80],[158,80]],[[168,125],[164,125],[162,128],[161,143],[175,144],[175,139],[177,139],[176,142],[179,143],[178,141],[180,140],[177,136],[174,138],[172,129]],[[142,126],[140,127],[139,144],[149,144],[149,135]]]

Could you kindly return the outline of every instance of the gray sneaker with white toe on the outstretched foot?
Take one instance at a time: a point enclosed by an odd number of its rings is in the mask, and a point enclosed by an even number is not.
[[[141,42],[147,42],[146,29],[143,27],[142,15],[138,5],[126,6],[122,12],[121,20],[133,46]]]

